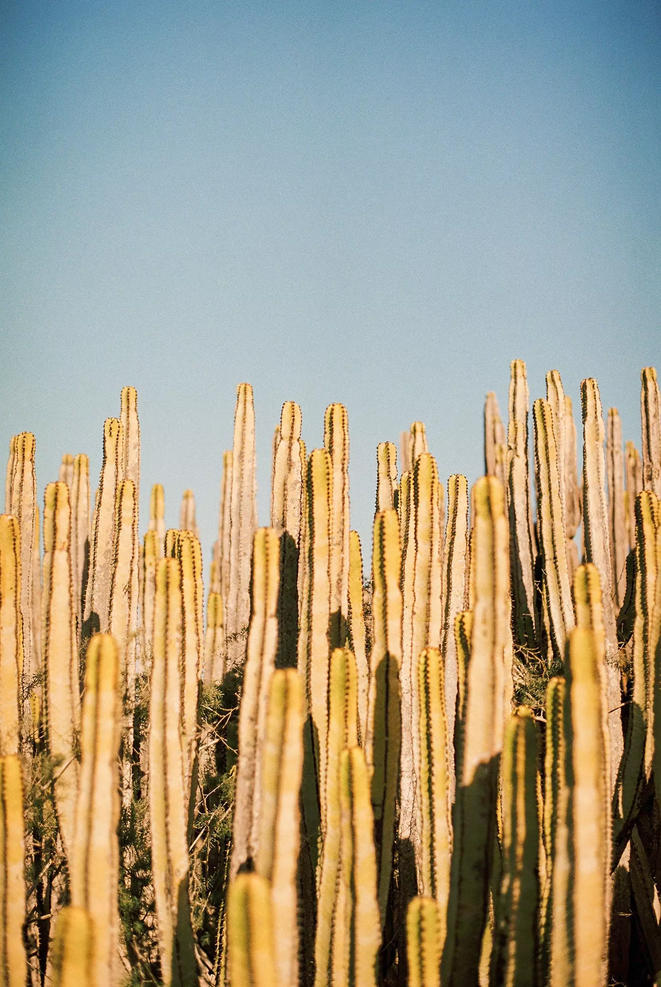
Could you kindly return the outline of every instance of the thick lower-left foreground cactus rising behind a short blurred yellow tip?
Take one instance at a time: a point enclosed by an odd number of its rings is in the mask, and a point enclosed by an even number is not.
[[[76,837],[69,856],[71,904],[84,908],[94,928],[98,984],[117,984],[120,669],[110,635],[95,635],[87,649],[80,736]]]

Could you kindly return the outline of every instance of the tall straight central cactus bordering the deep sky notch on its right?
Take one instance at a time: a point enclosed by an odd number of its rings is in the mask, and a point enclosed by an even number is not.
[[[329,405],[324,447],[331,457],[330,645],[346,644],[349,613],[349,422],[343,405]]]

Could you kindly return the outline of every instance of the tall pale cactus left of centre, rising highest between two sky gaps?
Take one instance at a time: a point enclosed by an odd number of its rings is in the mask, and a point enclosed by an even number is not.
[[[230,499],[229,576],[225,600],[229,667],[243,661],[244,635],[251,613],[251,552],[257,530],[255,408],[253,388],[240,384],[234,417],[232,493]]]

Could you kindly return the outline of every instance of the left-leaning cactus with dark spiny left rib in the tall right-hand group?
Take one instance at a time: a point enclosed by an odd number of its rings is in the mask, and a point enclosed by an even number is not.
[[[571,588],[567,565],[566,540],[559,495],[557,449],[553,431],[551,405],[538,399],[535,415],[535,470],[538,488],[538,530],[543,557],[544,592],[548,634],[552,652],[562,661],[567,633],[574,625]]]

